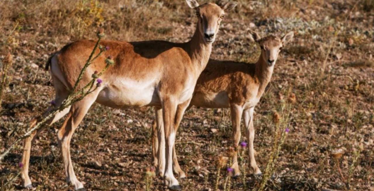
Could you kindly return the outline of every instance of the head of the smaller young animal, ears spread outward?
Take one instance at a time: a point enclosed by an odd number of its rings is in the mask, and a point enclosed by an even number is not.
[[[284,35],[282,38],[274,35],[261,38],[255,31],[249,30],[248,32],[249,38],[260,45],[262,59],[264,59],[270,67],[274,66],[282,47],[294,37],[294,32],[292,31]]]

